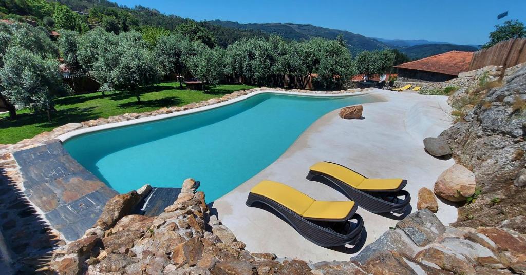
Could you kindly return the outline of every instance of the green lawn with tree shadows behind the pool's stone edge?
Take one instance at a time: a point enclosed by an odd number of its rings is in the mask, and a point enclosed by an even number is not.
[[[247,85],[217,85],[206,91],[179,89],[176,82],[160,83],[141,95],[141,103],[134,95],[126,92],[100,93],[69,96],[55,99],[57,112],[49,123],[46,116],[35,117],[30,110],[17,111],[15,120],[8,114],[0,115],[0,144],[9,144],[24,138],[31,138],[44,131],[66,123],[81,122],[99,117],[110,117],[126,113],[141,113],[162,107],[183,106],[214,97],[221,97],[233,91],[254,88]]]

